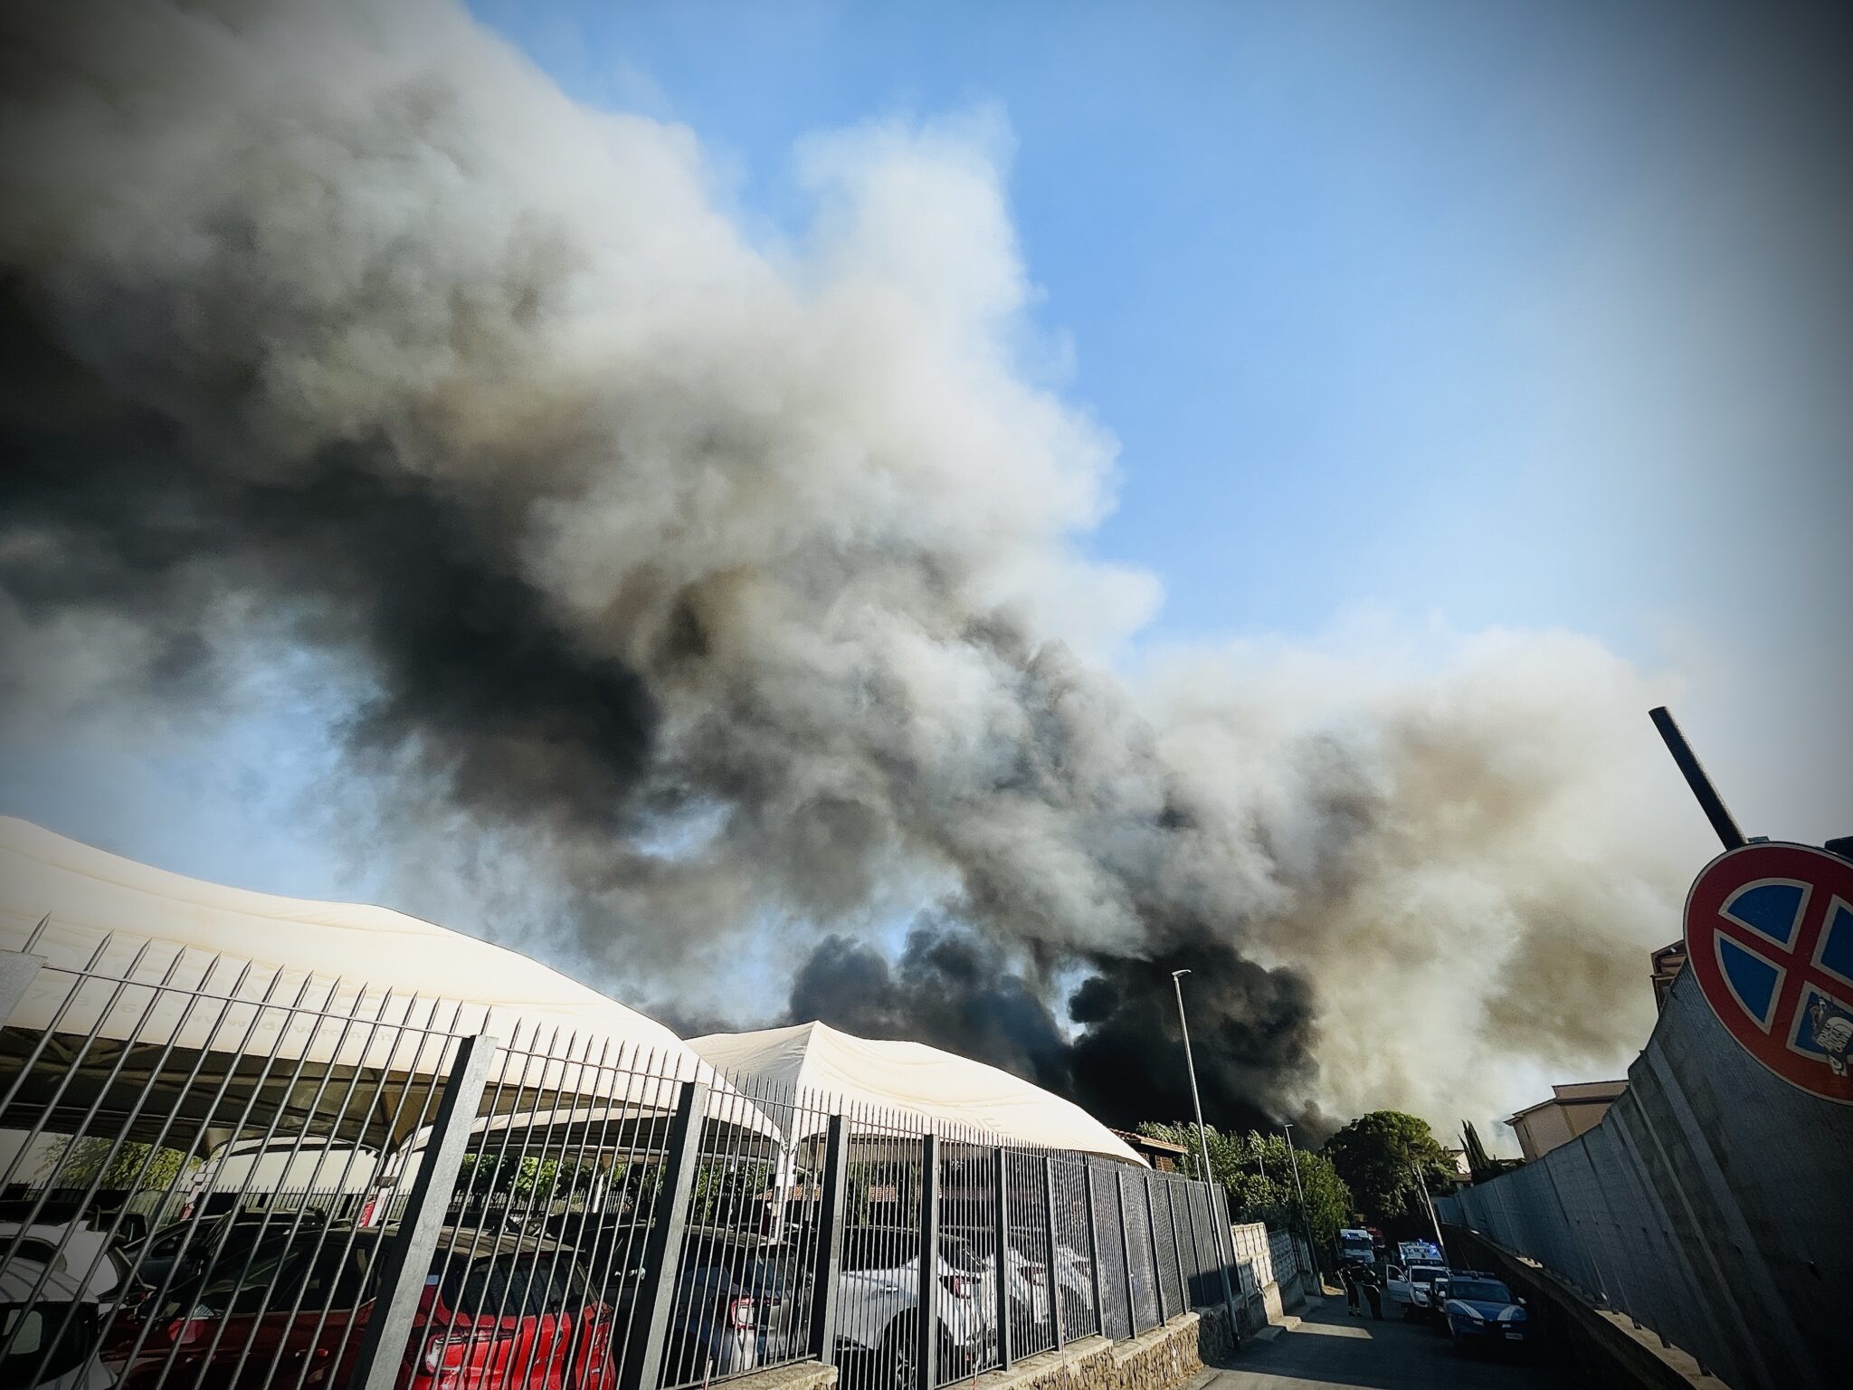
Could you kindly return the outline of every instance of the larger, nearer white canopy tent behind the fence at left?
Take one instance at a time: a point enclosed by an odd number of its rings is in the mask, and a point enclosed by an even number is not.
[[[0,817],[0,951],[28,941],[52,969],[4,1019],[0,1062],[52,1032],[63,1047],[117,1043],[89,1049],[98,1071],[122,1047],[139,1056],[158,1043],[237,1058],[209,1077],[282,1056],[404,1084],[430,1077],[443,1038],[489,1034],[504,1047],[491,1084],[515,1105],[536,1105],[543,1088],[660,1114],[674,1090],[663,1079],[704,1080],[715,1121],[776,1132],[669,1029],[515,951],[387,908],[187,878]],[[107,1066],[96,1086],[128,1105],[135,1066]],[[371,1121],[365,1142],[400,1142],[417,1118],[384,1129]]]

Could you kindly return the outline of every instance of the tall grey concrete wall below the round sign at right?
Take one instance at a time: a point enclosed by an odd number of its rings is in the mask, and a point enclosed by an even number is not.
[[[1595,1129],[1436,1205],[1736,1390],[1809,1390],[1853,1364],[1849,1171],[1853,1110],[1764,1071],[1683,971]]]

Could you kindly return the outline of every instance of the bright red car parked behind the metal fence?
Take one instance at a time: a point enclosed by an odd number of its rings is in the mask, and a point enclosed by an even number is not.
[[[326,1227],[222,1249],[119,1323],[124,1390],[345,1390],[372,1314],[382,1232]],[[246,1270],[246,1260],[250,1268]],[[578,1257],[539,1236],[439,1240],[398,1390],[610,1390],[613,1314]],[[170,1366],[170,1370],[165,1370]]]

